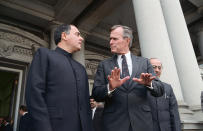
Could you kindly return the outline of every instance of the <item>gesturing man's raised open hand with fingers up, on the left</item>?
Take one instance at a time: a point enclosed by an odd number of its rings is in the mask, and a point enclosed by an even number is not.
[[[108,76],[109,80],[109,90],[112,91],[117,87],[120,87],[123,83],[130,79],[130,76],[126,76],[123,79],[120,79],[120,69],[115,67],[114,70],[111,71],[111,75]]]

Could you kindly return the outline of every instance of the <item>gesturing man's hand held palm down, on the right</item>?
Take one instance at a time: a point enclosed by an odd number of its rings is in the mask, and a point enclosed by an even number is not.
[[[140,78],[133,78],[133,81],[145,86],[151,86],[151,82],[155,78],[156,76],[152,76],[151,73],[141,73]]]

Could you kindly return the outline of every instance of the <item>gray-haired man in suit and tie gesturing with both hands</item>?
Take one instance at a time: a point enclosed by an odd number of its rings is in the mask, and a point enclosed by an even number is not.
[[[161,96],[163,85],[148,59],[130,53],[132,39],[129,27],[113,26],[110,48],[115,55],[97,68],[92,94],[96,101],[105,101],[103,131],[152,131],[147,92]]]

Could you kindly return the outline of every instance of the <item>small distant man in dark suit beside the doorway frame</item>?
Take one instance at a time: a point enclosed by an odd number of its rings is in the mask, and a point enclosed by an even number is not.
[[[19,113],[21,115],[20,123],[19,123],[19,131],[29,131],[30,128],[30,117],[27,112],[27,107],[21,105],[19,108]]]

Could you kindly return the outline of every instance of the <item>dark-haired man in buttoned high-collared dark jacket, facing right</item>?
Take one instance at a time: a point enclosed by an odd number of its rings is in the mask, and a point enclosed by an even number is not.
[[[54,39],[57,48],[38,49],[27,78],[32,131],[92,131],[87,73],[72,59],[83,38],[75,26],[61,25]]]

